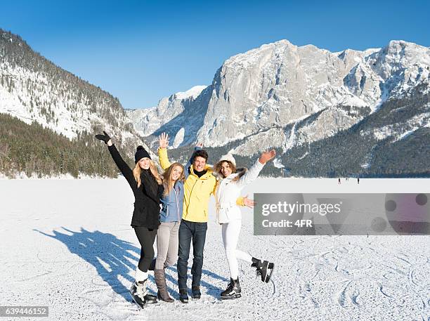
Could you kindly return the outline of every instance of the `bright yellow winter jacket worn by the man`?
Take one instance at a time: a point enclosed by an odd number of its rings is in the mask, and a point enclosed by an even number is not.
[[[163,169],[168,169],[171,163],[167,157],[167,148],[158,148],[159,164]],[[185,179],[183,196],[182,218],[190,222],[207,222],[208,204],[211,194],[215,194],[216,178],[212,175],[211,166],[206,166],[207,172],[200,178],[194,173],[193,165],[190,166],[190,174]],[[185,169],[187,171],[188,169]],[[185,175],[186,176],[186,175]],[[243,205],[243,197],[237,199],[237,204]]]

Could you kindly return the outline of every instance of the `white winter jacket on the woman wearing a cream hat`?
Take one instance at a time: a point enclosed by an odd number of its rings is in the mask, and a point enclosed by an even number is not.
[[[263,167],[264,164],[257,159],[249,170],[244,169],[239,173],[231,173],[226,178],[219,178],[215,191],[216,223],[228,223],[242,218],[236,199],[240,197],[242,188],[259,176]],[[237,176],[239,178],[235,180]]]

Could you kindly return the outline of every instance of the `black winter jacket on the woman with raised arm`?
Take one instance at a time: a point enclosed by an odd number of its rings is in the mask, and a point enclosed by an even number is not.
[[[112,155],[115,164],[117,164],[119,171],[121,171],[124,178],[133,190],[134,194],[134,211],[133,218],[131,218],[131,226],[143,226],[145,228],[157,229],[159,225],[159,199],[164,192],[163,185],[158,185],[157,195],[150,197],[151,193],[145,190],[145,185],[137,187],[136,179],[133,176],[133,171],[129,165],[124,162],[115,145],[108,146],[110,155]]]

